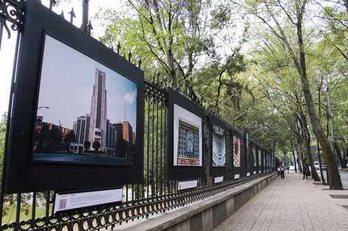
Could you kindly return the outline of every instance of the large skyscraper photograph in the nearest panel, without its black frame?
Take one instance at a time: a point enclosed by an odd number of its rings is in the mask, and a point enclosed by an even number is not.
[[[137,85],[45,35],[33,160],[133,166]]]

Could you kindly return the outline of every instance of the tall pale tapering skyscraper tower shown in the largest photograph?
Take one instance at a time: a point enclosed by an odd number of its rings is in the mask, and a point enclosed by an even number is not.
[[[90,106],[90,127],[88,140],[100,142],[100,151],[106,151],[106,75],[95,69],[95,83]]]

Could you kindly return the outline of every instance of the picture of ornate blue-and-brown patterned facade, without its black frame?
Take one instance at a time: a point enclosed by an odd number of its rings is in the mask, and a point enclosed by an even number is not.
[[[202,166],[202,119],[174,103],[173,165]]]

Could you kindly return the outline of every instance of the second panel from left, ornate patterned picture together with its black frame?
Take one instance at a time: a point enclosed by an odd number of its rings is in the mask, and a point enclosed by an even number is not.
[[[204,117],[200,106],[168,87],[168,178],[195,180],[203,176]]]

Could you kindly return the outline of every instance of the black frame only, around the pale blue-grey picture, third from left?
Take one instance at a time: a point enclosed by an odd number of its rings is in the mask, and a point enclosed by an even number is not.
[[[209,159],[210,159],[210,176],[212,176],[212,179],[219,177],[219,176],[225,176],[226,177],[226,171],[227,171],[227,160],[226,157],[226,163],[225,166],[212,166],[213,164],[213,125],[219,126],[220,128],[223,128],[225,130],[225,140],[226,140],[226,156],[230,155],[231,153],[228,153],[228,141],[227,141],[227,133],[230,132],[230,129],[228,126],[226,126],[226,123],[221,121],[219,118],[214,116],[213,114],[209,114]]]

